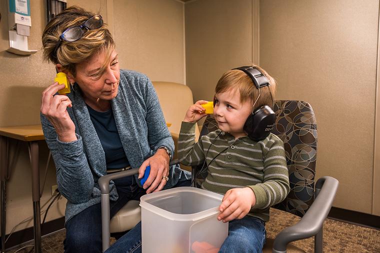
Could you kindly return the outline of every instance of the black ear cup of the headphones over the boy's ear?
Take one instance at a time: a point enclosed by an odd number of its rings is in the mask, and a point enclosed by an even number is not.
[[[258,141],[266,138],[270,134],[275,120],[276,114],[272,108],[268,105],[263,105],[249,114],[243,129],[249,138]]]

